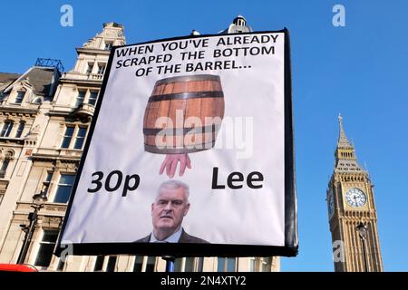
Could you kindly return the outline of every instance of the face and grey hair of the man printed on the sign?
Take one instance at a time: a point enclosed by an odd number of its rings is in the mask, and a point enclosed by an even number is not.
[[[189,202],[184,189],[161,189],[158,198],[151,204],[151,217],[156,230],[175,232],[189,211]]]

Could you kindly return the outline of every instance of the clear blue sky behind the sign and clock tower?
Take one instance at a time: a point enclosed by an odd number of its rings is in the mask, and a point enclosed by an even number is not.
[[[60,7],[73,5],[73,27]],[[345,6],[345,27],[332,24]],[[215,34],[243,14],[255,31],[291,34],[299,255],[282,271],[333,271],[325,189],[333,172],[339,112],[374,181],[386,271],[408,271],[408,2],[393,1],[7,1],[0,17],[0,72],[23,73],[37,57],[73,68],[74,47],[117,22],[127,43]]]

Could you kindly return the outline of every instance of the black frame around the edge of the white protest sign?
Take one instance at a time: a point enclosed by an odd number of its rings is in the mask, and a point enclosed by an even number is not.
[[[61,256],[67,252],[70,255],[78,256],[96,256],[96,255],[138,255],[138,256],[296,256],[298,251],[297,237],[297,209],[296,209],[296,176],[295,176],[295,148],[293,131],[293,107],[292,107],[292,72],[290,59],[289,32],[287,28],[279,31],[262,31],[246,34],[284,34],[285,35],[285,246],[252,246],[252,245],[229,245],[229,244],[183,244],[183,243],[83,243],[72,244],[72,247],[61,243],[63,230],[66,227],[66,221],[70,215],[73,205],[73,198],[79,183],[83,165],[88,154],[90,143],[96,121],[101,110],[103,95],[109,80],[114,53],[117,49],[127,46],[141,45],[148,43],[160,43],[166,41],[185,40],[191,38],[219,37],[220,34],[202,34],[160,39],[146,43],[126,44],[122,46],[113,46],[109,62],[107,64],[105,75],[102,81],[102,88],[99,94],[99,100],[96,104],[92,118],[91,128],[83,149],[83,156],[80,161],[78,172],[73,184],[73,191],[70,197],[66,215],[63,221],[63,227],[58,237],[54,254]],[[234,34],[227,34],[228,36]]]

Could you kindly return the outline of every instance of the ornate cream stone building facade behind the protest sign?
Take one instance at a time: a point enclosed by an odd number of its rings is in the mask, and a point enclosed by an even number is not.
[[[34,66],[0,73],[0,263],[15,263],[33,195],[44,189],[25,263],[43,271],[164,271],[153,256],[53,256],[113,45],[125,43],[121,24],[76,48],[73,70]],[[277,257],[179,258],[178,271],[277,271]]]

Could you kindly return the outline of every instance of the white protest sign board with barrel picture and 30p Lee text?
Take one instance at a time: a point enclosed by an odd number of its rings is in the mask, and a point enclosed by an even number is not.
[[[287,40],[113,48],[60,243],[80,255],[296,255]]]

